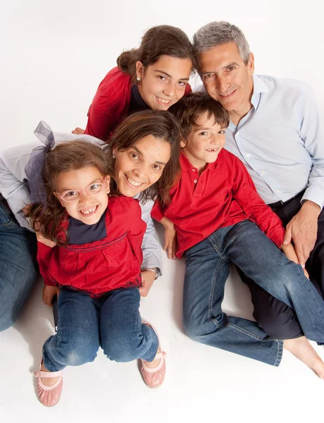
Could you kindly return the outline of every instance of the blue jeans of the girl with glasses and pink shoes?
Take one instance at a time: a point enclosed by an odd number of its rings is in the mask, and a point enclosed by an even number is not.
[[[159,341],[140,320],[138,288],[116,289],[100,298],[69,289],[57,302],[57,333],[44,343],[44,366],[57,372],[92,362],[101,346],[110,360],[154,360]]]

